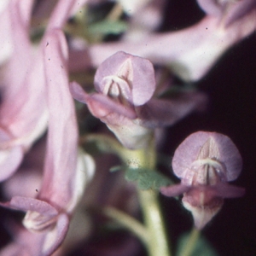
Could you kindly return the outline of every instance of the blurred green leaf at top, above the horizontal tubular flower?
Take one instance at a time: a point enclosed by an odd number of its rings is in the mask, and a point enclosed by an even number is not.
[[[125,32],[127,29],[127,24],[122,20],[103,20],[94,23],[89,27],[89,32],[91,34],[115,34],[118,35],[121,32]]]

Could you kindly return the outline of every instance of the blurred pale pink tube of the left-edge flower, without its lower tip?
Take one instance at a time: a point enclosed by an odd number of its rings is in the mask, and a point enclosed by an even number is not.
[[[28,32],[32,0],[9,4],[14,52],[3,74],[0,121],[14,139],[9,146],[22,145],[27,150],[47,125],[43,66],[38,56],[32,56]]]

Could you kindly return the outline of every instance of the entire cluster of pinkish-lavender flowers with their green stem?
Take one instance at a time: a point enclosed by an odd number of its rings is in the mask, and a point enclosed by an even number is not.
[[[1,0],[0,210],[24,215],[22,224],[6,225],[12,241],[1,243],[0,256],[69,255],[93,220],[91,236],[108,221],[97,214],[130,230],[148,255],[170,256],[160,193],[183,195],[195,230],[225,198],[245,194],[230,184],[240,175],[241,154],[217,132],[197,131],[177,147],[172,169],[180,183],[157,170],[169,141],[165,128],[207,111],[211,96],[197,82],[255,31],[255,0],[195,3],[201,20],[157,32],[166,0]],[[133,218],[139,209],[143,223]],[[117,255],[140,247],[126,235]],[[116,255],[113,248],[91,250],[90,241],[85,246],[84,255]]]

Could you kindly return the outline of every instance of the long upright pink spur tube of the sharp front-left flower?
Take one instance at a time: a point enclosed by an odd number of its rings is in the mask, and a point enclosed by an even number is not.
[[[66,38],[61,30],[55,29],[47,32],[44,43],[50,114],[44,181],[38,198],[65,208],[73,197],[78,127],[73,98],[68,89]]]

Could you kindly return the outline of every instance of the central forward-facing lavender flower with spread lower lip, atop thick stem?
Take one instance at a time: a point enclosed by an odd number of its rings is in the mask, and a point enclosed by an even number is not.
[[[90,112],[108,125],[126,148],[145,148],[153,129],[172,125],[205,100],[201,93],[177,96],[174,101],[154,99],[152,63],[138,56],[117,52],[98,67],[96,93],[87,94],[79,84],[70,84],[73,97],[87,104]]]

